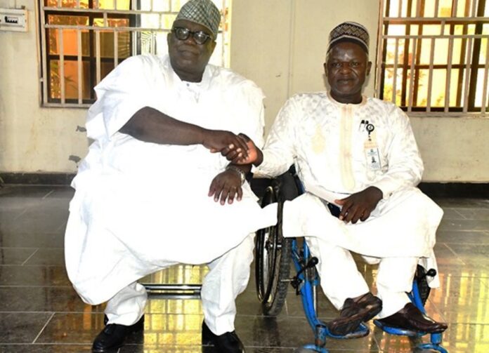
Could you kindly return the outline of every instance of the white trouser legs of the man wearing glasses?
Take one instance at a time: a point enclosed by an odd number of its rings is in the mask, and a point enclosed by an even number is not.
[[[209,264],[202,282],[204,320],[216,335],[234,331],[235,299],[246,288],[253,260],[254,234]],[[107,302],[109,324],[132,325],[144,314],[148,294],[144,286],[133,283],[122,288]]]

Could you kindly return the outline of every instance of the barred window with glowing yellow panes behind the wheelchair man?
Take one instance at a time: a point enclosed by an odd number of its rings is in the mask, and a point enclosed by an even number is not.
[[[486,115],[487,3],[382,0],[377,96],[413,113]]]

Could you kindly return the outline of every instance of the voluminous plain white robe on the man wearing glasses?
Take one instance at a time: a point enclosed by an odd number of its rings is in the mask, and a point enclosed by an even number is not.
[[[65,234],[67,273],[84,301],[98,304],[133,281],[177,262],[210,262],[276,222],[248,183],[232,205],[208,197],[228,161],[202,145],[158,145],[119,133],[153,107],[204,128],[263,142],[263,93],[252,81],[208,65],[200,84],[181,81],[168,56],[122,62],[96,86],[87,135],[94,142],[72,186]]]

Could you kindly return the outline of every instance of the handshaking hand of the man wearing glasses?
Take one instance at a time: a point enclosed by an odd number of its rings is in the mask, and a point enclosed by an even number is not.
[[[247,158],[248,146],[244,138],[223,130],[205,130],[202,145],[212,153],[221,152],[228,160],[233,158]]]

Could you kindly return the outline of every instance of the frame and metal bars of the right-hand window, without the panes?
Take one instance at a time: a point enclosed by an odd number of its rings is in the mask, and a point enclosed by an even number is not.
[[[390,5],[393,2],[398,4],[398,14],[393,17]],[[472,0],[470,11],[465,9],[463,17],[457,17],[457,0],[452,0],[452,13],[450,17],[442,17],[439,15],[440,10],[439,0],[435,1],[434,17],[425,17],[424,10],[425,0],[381,0],[379,11],[379,32],[377,41],[377,77],[375,91],[380,99],[384,99],[385,78],[388,69],[393,71],[393,88],[391,98],[387,98],[396,103],[398,100],[397,88],[400,85],[400,107],[409,114],[424,114],[430,113],[431,116],[467,116],[473,114],[477,116],[488,116],[488,72],[489,72],[489,35],[483,34],[483,25],[489,23],[489,18],[485,18],[484,6],[489,6],[488,0]],[[405,4],[405,8],[403,8]],[[412,13],[413,5],[416,13]],[[402,15],[402,11],[409,15]],[[487,10],[486,10],[487,11]],[[389,17],[389,15],[391,17]],[[403,35],[389,34],[389,25],[405,25],[405,33]],[[439,25],[439,34],[422,34],[424,25]],[[463,33],[455,34],[455,25],[462,25]],[[469,25],[474,25],[474,34],[468,34]],[[417,26],[417,33],[410,32],[411,26]],[[449,29],[449,34],[445,34],[445,28]],[[421,46],[422,40],[431,41],[430,59],[428,64],[421,64]],[[448,58],[445,64],[434,64],[434,48],[437,39],[448,39]],[[454,58],[453,48],[455,39],[461,39],[461,50],[459,63],[453,63]],[[393,53],[393,63],[387,63],[387,41],[395,40],[395,52]],[[404,44],[399,44],[403,40]],[[485,63],[480,63],[481,59],[481,43],[485,41]],[[398,62],[399,48],[403,46],[403,60]],[[404,55],[408,53],[408,55]],[[409,56],[415,58],[410,60]],[[402,70],[401,82],[397,82],[397,72]],[[445,95],[442,107],[433,107],[431,101],[434,100],[433,95],[433,70],[445,69]],[[458,69],[457,82],[457,97],[456,106],[450,106],[450,79],[451,70]],[[478,71],[483,69],[483,94],[481,97],[481,106],[476,105],[476,90],[478,88],[477,79]],[[420,70],[426,70],[428,77],[426,105],[417,106],[413,102],[417,102],[417,94],[419,86]],[[414,79],[409,79],[408,72],[414,72]],[[469,77],[469,79],[466,79]]]

